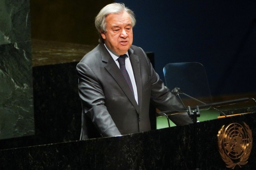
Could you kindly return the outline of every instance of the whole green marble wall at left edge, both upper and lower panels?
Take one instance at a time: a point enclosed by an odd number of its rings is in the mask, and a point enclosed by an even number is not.
[[[34,134],[29,0],[0,1],[0,139]]]

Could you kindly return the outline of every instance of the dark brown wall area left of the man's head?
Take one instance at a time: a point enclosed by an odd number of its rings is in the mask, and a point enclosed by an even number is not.
[[[98,44],[94,18],[113,0],[31,0],[32,39]]]

